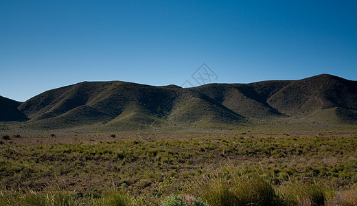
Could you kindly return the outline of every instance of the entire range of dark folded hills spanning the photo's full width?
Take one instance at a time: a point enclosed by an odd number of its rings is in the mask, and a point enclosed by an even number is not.
[[[81,82],[45,91],[23,103],[0,100],[1,111],[9,112],[1,113],[1,121],[28,118],[26,124],[34,128],[97,124],[132,129],[163,123],[217,126],[290,117],[333,124],[357,122],[357,82],[327,74],[188,89],[120,81]]]

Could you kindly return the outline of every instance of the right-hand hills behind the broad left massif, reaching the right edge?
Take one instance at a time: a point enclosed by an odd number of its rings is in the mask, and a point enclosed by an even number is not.
[[[357,120],[357,82],[328,74],[197,89],[245,117],[297,117],[335,124]]]

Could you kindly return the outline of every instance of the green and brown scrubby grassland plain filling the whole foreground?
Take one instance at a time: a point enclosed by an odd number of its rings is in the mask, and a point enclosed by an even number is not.
[[[357,205],[356,135],[283,136],[29,146],[9,135],[0,205]]]

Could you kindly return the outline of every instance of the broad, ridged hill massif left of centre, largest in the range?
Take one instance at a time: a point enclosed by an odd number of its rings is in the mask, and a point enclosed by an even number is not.
[[[82,82],[27,100],[19,111],[32,126],[60,128],[105,124],[135,128],[163,120],[179,124],[237,122],[243,119],[206,95],[174,85],[154,87],[130,82]]]

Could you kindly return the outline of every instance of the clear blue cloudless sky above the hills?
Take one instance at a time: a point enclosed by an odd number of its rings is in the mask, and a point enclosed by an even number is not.
[[[0,0],[0,95],[83,81],[357,80],[357,1]],[[202,68],[201,68],[202,69]],[[207,81],[205,82],[207,83]]]

